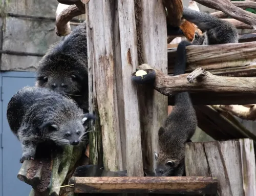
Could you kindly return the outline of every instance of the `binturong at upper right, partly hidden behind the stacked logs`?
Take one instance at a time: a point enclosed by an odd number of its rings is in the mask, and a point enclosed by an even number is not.
[[[215,45],[238,43],[238,31],[235,26],[225,20],[184,7],[183,18],[194,23],[203,32],[195,32],[193,45]]]

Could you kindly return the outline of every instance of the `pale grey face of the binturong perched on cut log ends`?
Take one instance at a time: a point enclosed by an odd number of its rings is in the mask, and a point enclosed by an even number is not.
[[[69,120],[65,123],[46,122],[41,128],[46,129],[47,138],[57,145],[78,145],[83,141],[89,121],[95,119],[92,114],[86,114],[81,119]]]

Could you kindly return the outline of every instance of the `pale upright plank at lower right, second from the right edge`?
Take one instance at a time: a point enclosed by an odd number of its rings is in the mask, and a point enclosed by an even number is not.
[[[230,140],[220,142],[220,147],[227,167],[232,195],[244,196],[240,143]]]

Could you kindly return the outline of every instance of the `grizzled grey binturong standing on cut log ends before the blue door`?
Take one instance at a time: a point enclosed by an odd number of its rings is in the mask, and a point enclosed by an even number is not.
[[[72,99],[35,86],[19,90],[7,107],[9,126],[22,144],[20,163],[33,160],[37,145],[45,141],[78,145],[92,119],[94,115],[84,114]]]

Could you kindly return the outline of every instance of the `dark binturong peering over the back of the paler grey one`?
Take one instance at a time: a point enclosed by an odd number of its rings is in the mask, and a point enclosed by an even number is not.
[[[86,23],[52,45],[38,63],[36,86],[42,86],[76,101],[88,112],[88,57]]]

